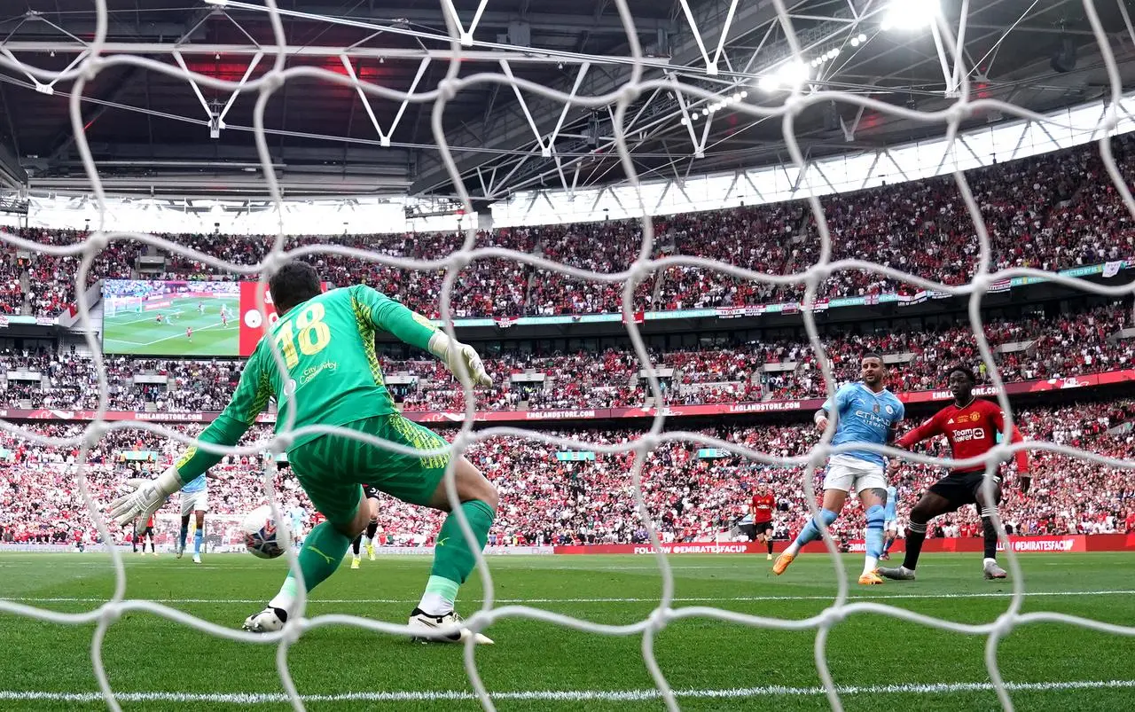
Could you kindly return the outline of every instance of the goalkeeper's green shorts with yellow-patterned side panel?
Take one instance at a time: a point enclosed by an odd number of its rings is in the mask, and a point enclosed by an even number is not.
[[[339,426],[415,450],[446,445],[439,435],[400,413],[373,416]],[[331,523],[354,519],[362,484],[411,504],[429,504],[449,463],[448,454],[407,455],[343,435],[321,435],[288,452],[303,491]]]

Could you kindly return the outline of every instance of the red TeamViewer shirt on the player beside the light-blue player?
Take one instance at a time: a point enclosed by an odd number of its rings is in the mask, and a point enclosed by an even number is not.
[[[965,408],[950,403],[938,413],[898,439],[898,447],[910,447],[915,443],[944,435],[950,442],[950,451],[955,460],[976,458],[990,451],[997,444],[997,434],[1004,427],[1004,413],[1001,408],[990,401],[974,399]],[[1024,441],[1020,430],[1012,428],[1012,442]],[[1018,450],[1016,453],[1017,470],[1028,471],[1028,453]],[[982,472],[984,464],[958,467],[955,474]]]

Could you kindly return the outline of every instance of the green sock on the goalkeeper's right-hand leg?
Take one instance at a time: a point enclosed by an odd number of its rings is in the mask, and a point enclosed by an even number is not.
[[[480,500],[462,503],[461,510],[465,512],[469,527],[477,536],[477,550],[485,548],[496,512]],[[477,566],[477,554],[465,541],[461,525],[457,523],[457,516],[451,512],[437,535],[434,568],[430,570],[426,594],[419,608],[430,613],[447,613],[453,610],[453,602],[457,598],[457,587],[465,583],[474,566]]]

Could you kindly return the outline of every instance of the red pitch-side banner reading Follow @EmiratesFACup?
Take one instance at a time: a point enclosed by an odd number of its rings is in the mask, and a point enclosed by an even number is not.
[[[902,539],[894,542],[892,553],[901,553]],[[1009,537],[1012,551],[1026,553],[1082,553],[1088,551],[1135,551],[1135,534],[1091,534],[1067,536],[1014,536]],[[788,542],[776,542],[775,551],[783,551]],[[980,553],[984,548],[981,537],[936,538],[923,543],[923,552],[931,553]],[[861,539],[851,542],[851,553],[863,553]],[[764,554],[764,544],[755,542],[682,542],[663,544],[662,551],[667,554]],[[813,542],[805,546],[805,553],[822,554],[827,550],[822,542]],[[1003,546],[998,546],[1003,551]],[[594,544],[589,546],[556,546],[557,554],[631,554],[650,555],[655,550],[649,544]]]

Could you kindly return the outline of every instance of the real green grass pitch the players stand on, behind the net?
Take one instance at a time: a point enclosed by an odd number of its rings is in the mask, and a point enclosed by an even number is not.
[[[780,578],[764,556],[681,555],[674,567],[675,609],[731,611],[804,619],[835,592],[826,555],[805,555]],[[1135,625],[1135,556],[1033,554],[1020,556],[1029,595],[1024,612],[1058,611]],[[959,622],[990,622],[1009,604],[1008,581],[981,578],[975,554],[926,555],[915,583],[863,588],[847,556],[854,600],[897,606]],[[54,611],[98,608],[110,595],[104,554],[0,555],[0,598]],[[603,623],[633,623],[656,605],[662,578],[649,556],[499,556],[489,559],[498,605],[524,603]],[[238,627],[278,588],[281,560],[205,555],[203,566],[126,555],[127,597],[152,598],[226,627]],[[424,556],[344,563],[314,592],[309,615],[350,613],[405,622],[429,575]],[[474,573],[459,609],[479,604]],[[101,710],[90,660],[93,625],[66,626],[0,613],[3,640],[0,709]],[[642,662],[641,637],[609,637],[531,619],[503,618],[488,630],[494,646],[477,650],[482,679],[501,710],[662,710]],[[687,618],[655,642],[670,684],[686,710],[825,710],[812,689],[819,678],[812,631],[776,631]],[[842,696],[848,710],[997,710],[983,664],[985,638],[874,614],[842,620],[829,638],[835,682],[857,687]],[[109,628],[103,660],[125,710],[286,710],[275,670],[275,646],[222,640],[145,612]],[[420,645],[345,626],[306,631],[288,662],[305,696],[364,693],[348,701],[309,698],[310,710],[478,710],[462,667],[463,648]],[[1017,710],[1123,710],[1135,694],[1135,638],[1070,625],[1016,628],[999,647],[1000,670],[1016,688]],[[1105,682],[1090,686],[1087,682]],[[936,687],[935,687],[936,686]],[[777,689],[779,687],[791,689]],[[153,693],[163,693],[154,695]],[[379,694],[381,693],[381,694]],[[395,696],[392,693],[406,693]],[[532,693],[527,698],[516,693]],[[573,694],[566,694],[573,693]],[[68,696],[75,694],[76,696]],[[182,696],[178,696],[180,694]],[[241,695],[250,694],[247,697]],[[259,696],[258,696],[259,695]]]

